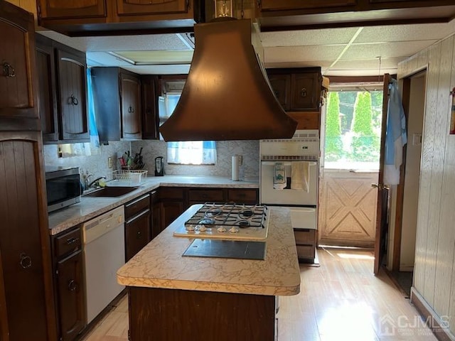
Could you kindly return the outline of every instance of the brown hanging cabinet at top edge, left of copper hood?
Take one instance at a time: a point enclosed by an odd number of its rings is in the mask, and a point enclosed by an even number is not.
[[[37,0],[38,24],[68,36],[190,32],[201,0]]]

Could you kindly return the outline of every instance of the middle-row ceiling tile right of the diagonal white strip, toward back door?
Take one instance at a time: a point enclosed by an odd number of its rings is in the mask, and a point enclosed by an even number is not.
[[[364,60],[382,58],[410,57],[424,50],[436,40],[422,40],[377,44],[353,44],[343,54],[341,60]]]

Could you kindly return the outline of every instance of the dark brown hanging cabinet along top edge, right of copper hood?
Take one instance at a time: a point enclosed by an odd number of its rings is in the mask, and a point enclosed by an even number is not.
[[[262,32],[411,23],[449,23],[452,0],[258,0]]]

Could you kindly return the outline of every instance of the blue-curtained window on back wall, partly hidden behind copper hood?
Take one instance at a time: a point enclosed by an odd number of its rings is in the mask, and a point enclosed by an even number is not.
[[[159,97],[159,125],[171,117],[176,109],[180,93],[168,93]],[[160,139],[163,137],[160,134]],[[215,141],[168,142],[168,163],[184,165],[214,165],[216,163]]]

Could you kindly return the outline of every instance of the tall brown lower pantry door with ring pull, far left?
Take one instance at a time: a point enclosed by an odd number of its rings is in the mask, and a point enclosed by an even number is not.
[[[43,262],[49,246],[41,239],[48,229],[41,148],[40,132],[0,133],[0,281],[8,293],[10,341],[53,340],[48,338],[48,323],[54,317],[46,310],[53,301],[45,287],[50,269],[45,273],[47,262]]]

